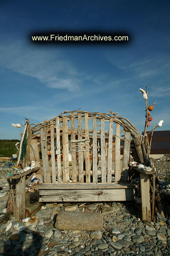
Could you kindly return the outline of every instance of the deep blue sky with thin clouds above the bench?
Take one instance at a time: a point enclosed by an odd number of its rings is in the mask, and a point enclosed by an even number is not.
[[[0,139],[19,139],[11,123],[38,124],[64,110],[112,109],[144,129],[149,92],[152,129],[169,130],[169,1],[1,1]],[[44,31],[125,31],[127,44],[34,44]]]

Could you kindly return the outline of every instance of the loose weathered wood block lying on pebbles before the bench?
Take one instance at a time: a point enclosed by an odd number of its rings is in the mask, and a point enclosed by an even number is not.
[[[63,230],[101,230],[103,215],[100,212],[59,212],[55,228]]]

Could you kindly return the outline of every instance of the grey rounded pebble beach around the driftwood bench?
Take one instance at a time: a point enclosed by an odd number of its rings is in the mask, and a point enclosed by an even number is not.
[[[0,167],[0,218],[7,200],[9,169]],[[170,159],[154,160],[161,189],[170,193]],[[0,256],[105,255],[170,256],[170,216],[156,214],[156,221],[143,223],[136,202],[85,202],[84,204],[44,204],[27,222],[13,215],[0,224]],[[101,212],[101,231],[55,228],[59,211]],[[10,227],[11,226],[11,227]]]

